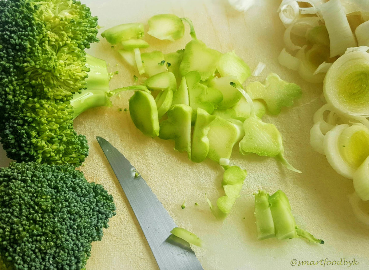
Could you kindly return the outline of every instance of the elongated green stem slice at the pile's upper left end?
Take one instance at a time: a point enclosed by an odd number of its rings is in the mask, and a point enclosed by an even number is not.
[[[130,38],[142,38],[144,36],[144,24],[129,23],[111,27],[101,33],[101,37],[106,38],[110,44],[117,44]]]

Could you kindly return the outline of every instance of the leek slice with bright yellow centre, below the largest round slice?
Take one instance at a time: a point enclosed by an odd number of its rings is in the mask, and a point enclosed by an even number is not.
[[[353,179],[369,156],[369,130],[363,124],[337,125],[324,136],[324,153],[333,169]]]

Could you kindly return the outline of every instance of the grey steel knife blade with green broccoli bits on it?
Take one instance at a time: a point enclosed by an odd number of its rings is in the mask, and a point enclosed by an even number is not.
[[[172,235],[177,227],[135,167],[106,139],[96,137],[136,215],[160,270],[203,270],[189,243]]]

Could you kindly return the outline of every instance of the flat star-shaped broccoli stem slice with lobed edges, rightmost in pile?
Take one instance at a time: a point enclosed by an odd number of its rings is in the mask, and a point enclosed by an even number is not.
[[[301,88],[297,84],[287,83],[275,73],[268,75],[265,84],[248,84],[246,92],[253,100],[264,100],[271,114],[279,114],[283,106],[292,106],[293,100],[301,97]]]

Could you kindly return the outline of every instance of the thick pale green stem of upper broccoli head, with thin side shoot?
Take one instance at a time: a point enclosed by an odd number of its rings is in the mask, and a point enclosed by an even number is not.
[[[111,106],[110,97],[121,91],[126,90],[144,90],[148,91],[146,86],[127,86],[109,90],[109,77],[106,62],[91,55],[86,55],[86,66],[90,69],[89,77],[86,79],[87,89],[81,93],[75,93],[70,104],[73,107],[73,119],[84,111],[101,106]]]

